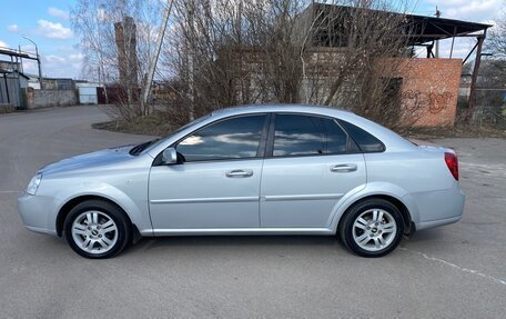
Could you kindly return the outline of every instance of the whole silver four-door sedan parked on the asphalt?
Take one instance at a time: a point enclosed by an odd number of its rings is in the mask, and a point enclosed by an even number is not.
[[[138,235],[338,235],[380,257],[403,235],[458,221],[464,200],[451,149],[348,111],[254,106],[49,165],[18,207],[29,230],[64,236],[88,258]]]

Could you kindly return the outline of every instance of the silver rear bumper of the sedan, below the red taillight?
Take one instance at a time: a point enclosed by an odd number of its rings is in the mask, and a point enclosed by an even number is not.
[[[466,196],[455,182],[448,190],[424,192],[413,196],[418,208],[419,220],[416,230],[457,222],[464,213]]]

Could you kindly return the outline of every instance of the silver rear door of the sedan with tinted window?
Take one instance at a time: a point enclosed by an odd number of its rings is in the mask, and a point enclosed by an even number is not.
[[[261,182],[261,227],[326,228],[344,195],[366,183],[364,156],[335,119],[272,117]]]

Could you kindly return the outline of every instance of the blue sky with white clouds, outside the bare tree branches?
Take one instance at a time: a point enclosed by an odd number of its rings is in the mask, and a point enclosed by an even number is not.
[[[141,0],[142,1],[142,0]],[[74,0],[0,0],[0,47],[34,51],[32,39],[42,57],[42,73],[47,77],[82,78],[83,56],[77,44],[79,38],[72,32],[69,11]],[[409,11],[433,16],[436,6],[444,18],[492,22],[499,14],[505,0],[418,0],[409,2]],[[473,46],[472,40],[456,43],[454,56],[464,57]],[[442,56],[448,43],[442,43]],[[0,56],[1,59],[7,57]],[[37,73],[33,62],[24,62],[26,72]]]

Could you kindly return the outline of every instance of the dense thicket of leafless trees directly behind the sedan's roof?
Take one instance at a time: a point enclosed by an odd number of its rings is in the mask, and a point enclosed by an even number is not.
[[[401,62],[393,58],[403,57],[408,30],[403,14],[385,12],[398,8],[383,0],[308,4],[175,1],[165,63],[181,83],[178,113],[302,102],[398,123]]]

